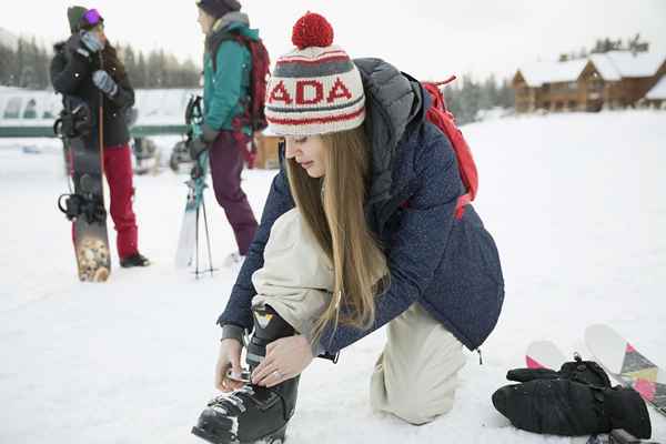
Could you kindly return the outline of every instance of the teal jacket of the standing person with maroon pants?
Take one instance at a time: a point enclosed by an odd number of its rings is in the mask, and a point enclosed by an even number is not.
[[[246,16],[236,16],[226,24],[216,23],[220,29],[213,29],[206,38],[203,57],[204,123],[215,131],[234,129],[232,120],[243,114],[250,97],[252,56],[250,50],[233,40],[231,34],[240,33],[249,39],[259,40],[259,30],[250,29]],[[213,64],[213,57],[216,67]],[[246,124],[243,125],[243,130],[250,133]]]

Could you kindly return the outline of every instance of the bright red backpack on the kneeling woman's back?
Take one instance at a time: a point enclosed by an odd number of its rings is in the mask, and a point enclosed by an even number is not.
[[[455,80],[455,75],[443,82],[421,82],[423,88],[428,92],[432,104],[426,112],[428,121],[434,123],[447,138],[455,151],[457,159],[458,172],[461,180],[465,186],[465,194],[461,195],[455,205],[455,218],[461,219],[465,212],[465,205],[470,204],[476,196],[478,190],[478,173],[476,164],[472,158],[470,145],[465,141],[463,133],[455,124],[453,113],[446,109],[446,101],[442,94],[440,87]]]

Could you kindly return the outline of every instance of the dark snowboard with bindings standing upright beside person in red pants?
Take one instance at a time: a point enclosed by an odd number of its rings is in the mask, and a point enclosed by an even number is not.
[[[92,118],[93,112],[85,103],[77,103],[73,99],[65,98],[65,110],[54,128],[71,157],[70,178],[73,193],[60,195],[58,206],[67,219],[72,221],[79,280],[104,282],[111,274],[111,255],[102,184],[102,158]]]

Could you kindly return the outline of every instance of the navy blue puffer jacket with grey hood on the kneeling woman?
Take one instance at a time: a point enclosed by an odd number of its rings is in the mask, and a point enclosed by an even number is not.
[[[355,60],[366,93],[364,123],[373,145],[366,220],[385,245],[391,286],[376,302],[373,326],[325,330],[320,345],[335,353],[390,322],[414,302],[442,322],[467,349],[493,331],[504,301],[495,243],[472,205],[454,216],[464,193],[448,139],[425,119],[421,85],[379,59]],[[407,208],[401,204],[407,201]],[[269,194],[261,225],[232,290],[220,325],[252,329],[252,273],[263,265],[273,222],[294,206],[284,171]]]

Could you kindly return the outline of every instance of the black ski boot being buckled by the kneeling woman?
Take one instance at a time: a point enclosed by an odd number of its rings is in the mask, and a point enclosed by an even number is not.
[[[263,360],[269,343],[295,333],[270,306],[253,309],[253,314],[254,333],[246,355],[250,371]],[[248,383],[209,402],[192,433],[213,444],[282,444],[297,389],[299,376],[270,389]]]

